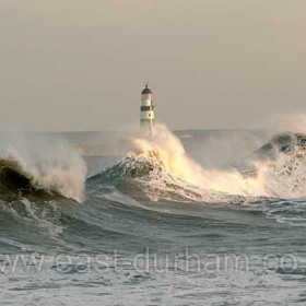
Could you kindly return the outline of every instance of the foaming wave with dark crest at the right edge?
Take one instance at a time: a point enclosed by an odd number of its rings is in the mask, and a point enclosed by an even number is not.
[[[246,178],[252,177],[258,181],[266,195],[283,199],[305,197],[306,136],[275,136],[238,168]]]

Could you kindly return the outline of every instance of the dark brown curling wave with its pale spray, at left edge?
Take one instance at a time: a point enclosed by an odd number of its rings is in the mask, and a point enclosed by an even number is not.
[[[1,143],[0,188],[7,199],[62,196],[83,200],[86,167],[68,145],[56,141]]]

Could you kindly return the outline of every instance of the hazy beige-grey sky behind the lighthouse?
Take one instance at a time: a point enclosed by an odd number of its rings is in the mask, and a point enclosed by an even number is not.
[[[172,129],[306,109],[305,0],[1,0],[0,125]]]

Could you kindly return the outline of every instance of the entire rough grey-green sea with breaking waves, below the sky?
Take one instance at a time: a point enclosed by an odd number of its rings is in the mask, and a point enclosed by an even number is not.
[[[295,132],[0,137],[0,305],[306,305]]]

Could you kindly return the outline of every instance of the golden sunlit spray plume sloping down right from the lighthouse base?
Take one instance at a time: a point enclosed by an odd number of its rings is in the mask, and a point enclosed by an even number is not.
[[[155,156],[168,173],[188,184],[242,196],[260,193],[256,180],[243,177],[235,168],[207,169],[192,161],[179,139],[163,125],[155,127],[152,138],[137,138],[133,142],[140,155]]]

